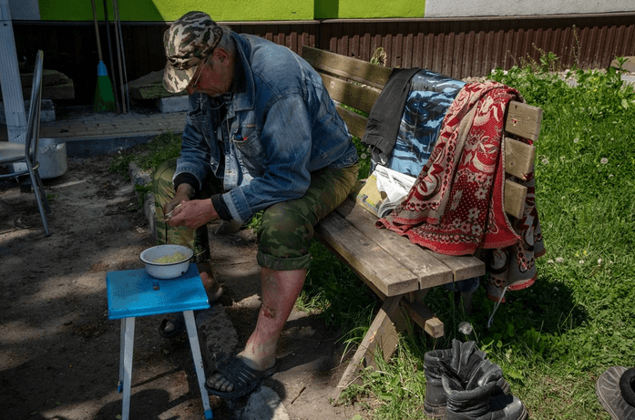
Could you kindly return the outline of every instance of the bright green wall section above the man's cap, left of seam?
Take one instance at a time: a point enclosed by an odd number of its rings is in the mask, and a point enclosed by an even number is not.
[[[112,0],[107,1],[112,19]],[[97,19],[104,19],[104,4],[96,0]],[[92,6],[87,0],[39,0],[42,20],[93,20]],[[312,0],[121,0],[118,1],[122,21],[172,21],[190,10],[200,10],[218,21],[311,20]]]

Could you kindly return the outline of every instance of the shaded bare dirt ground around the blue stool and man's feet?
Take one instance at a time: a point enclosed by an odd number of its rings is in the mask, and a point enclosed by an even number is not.
[[[67,173],[45,179],[52,213],[46,237],[33,193],[0,184],[0,418],[113,420],[119,322],[108,320],[106,274],[142,268],[154,244],[132,185],[108,171],[108,156],[69,159]],[[221,302],[244,345],[260,305],[252,235],[210,241]],[[185,334],[159,337],[163,317],[137,319],[133,419],[201,419],[203,409]],[[293,312],[279,348],[281,368],[265,381],[292,419],[349,419],[333,406],[342,374],[336,333],[316,315]],[[210,398],[214,418],[236,418],[237,401]],[[264,419],[263,419],[264,420]]]

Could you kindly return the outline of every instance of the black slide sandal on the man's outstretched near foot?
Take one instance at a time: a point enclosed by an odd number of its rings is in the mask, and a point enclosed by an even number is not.
[[[262,379],[268,378],[272,374],[275,374],[278,370],[278,360],[269,369],[264,371],[258,371],[252,369],[247,364],[241,361],[238,357],[234,356],[229,359],[224,359],[217,364],[215,373],[222,374],[225,379],[230,381],[234,385],[234,389],[231,392],[223,392],[216,388],[213,388],[209,382],[205,382],[205,389],[210,394],[218,395],[226,399],[239,398],[246,394],[251,393]]]

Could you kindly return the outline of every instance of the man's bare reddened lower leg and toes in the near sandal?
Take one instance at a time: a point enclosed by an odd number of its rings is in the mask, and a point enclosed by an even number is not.
[[[245,350],[236,357],[259,371],[275,364],[278,339],[302,291],[306,270],[273,271],[261,268],[262,305],[256,329],[251,333]],[[221,392],[233,391],[233,384],[216,373],[207,384]]]

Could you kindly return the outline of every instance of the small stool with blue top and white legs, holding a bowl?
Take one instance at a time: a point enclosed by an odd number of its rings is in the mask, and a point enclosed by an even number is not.
[[[118,392],[123,391],[122,420],[128,420],[130,413],[135,317],[173,312],[183,312],[185,317],[205,418],[213,418],[210,397],[205,389],[203,358],[200,355],[199,336],[194,322],[194,311],[209,308],[210,302],[200,281],[196,264],[190,264],[185,274],[172,280],[150,277],[145,269],[110,271],[106,274],[106,283],[108,319],[121,320]]]

